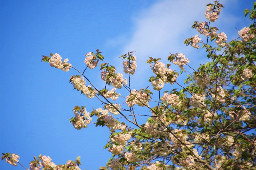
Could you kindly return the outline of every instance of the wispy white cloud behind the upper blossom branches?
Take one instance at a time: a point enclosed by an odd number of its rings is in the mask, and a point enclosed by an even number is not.
[[[133,81],[135,80],[138,85],[144,85],[143,82],[147,81],[148,77],[152,75],[150,66],[145,64],[148,56],[162,58],[162,61],[165,62],[169,52],[172,54],[178,52],[185,54],[195,68],[199,66],[199,63],[205,63],[205,58],[203,60],[199,59],[199,56],[205,54],[204,50],[197,50],[190,46],[186,47],[183,42],[186,38],[198,34],[196,30],[191,29],[191,26],[194,21],[206,21],[204,11],[208,3],[213,3],[213,1],[157,1],[148,9],[144,9],[138,15],[132,17],[134,23],[132,35],[122,35],[108,41],[112,45],[120,44],[121,55],[127,51],[136,51],[134,55],[137,56],[138,69]],[[223,1],[224,3],[228,5],[232,2]],[[229,17],[232,18],[232,16]],[[236,23],[236,21],[237,18],[235,19],[235,17],[232,20],[223,18],[219,23],[216,23],[216,26]],[[202,38],[204,37],[202,36]],[[119,65],[115,64],[117,70],[122,70],[120,60],[117,62],[119,63]],[[173,64],[171,68],[177,69]],[[150,74],[148,74],[149,71]],[[146,73],[149,76],[145,77]],[[142,77],[144,79],[141,79]]]

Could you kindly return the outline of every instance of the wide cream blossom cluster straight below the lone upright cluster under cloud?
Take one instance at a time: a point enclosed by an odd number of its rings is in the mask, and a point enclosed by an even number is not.
[[[128,101],[130,97],[135,97],[133,100]],[[135,104],[144,107],[145,105],[149,107],[148,102],[151,98],[151,95],[142,91],[136,91],[133,89],[131,91],[131,94],[126,97],[125,103],[127,104],[128,107],[132,107]]]

